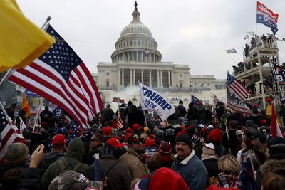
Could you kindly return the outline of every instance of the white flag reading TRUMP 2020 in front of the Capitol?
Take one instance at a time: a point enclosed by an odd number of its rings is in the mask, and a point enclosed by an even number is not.
[[[175,113],[175,107],[162,97],[162,95],[146,85],[142,85],[141,83],[139,85],[142,110],[153,110],[160,116],[162,121]]]

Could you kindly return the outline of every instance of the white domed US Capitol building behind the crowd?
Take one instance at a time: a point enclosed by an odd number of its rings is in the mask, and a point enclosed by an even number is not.
[[[222,90],[225,97],[226,80],[217,80],[214,75],[190,75],[189,65],[162,62],[155,38],[152,37],[150,29],[140,21],[136,2],[132,16],[133,20],[123,28],[115,43],[112,62],[99,62],[98,73],[92,73],[105,102],[110,102],[113,97],[118,96],[128,100],[126,94],[130,93],[133,100],[140,99],[139,88],[135,87],[138,81],[162,92],[168,100],[177,100],[178,97],[187,102],[190,101],[190,94],[203,100],[201,95],[204,94],[206,98],[207,93],[213,94],[210,92],[213,90]],[[133,92],[131,89],[134,89]],[[212,103],[212,99],[203,101]]]

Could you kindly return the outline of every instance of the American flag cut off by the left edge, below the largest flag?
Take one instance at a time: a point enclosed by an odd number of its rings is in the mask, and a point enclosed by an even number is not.
[[[0,109],[0,134],[1,134],[1,145],[0,145],[0,164],[3,163],[4,154],[9,144],[15,142],[23,142],[26,144],[26,141],[15,125],[11,125],[3,110]]]

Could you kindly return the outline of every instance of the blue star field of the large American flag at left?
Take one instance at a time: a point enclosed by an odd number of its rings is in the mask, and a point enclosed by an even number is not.
[[[38,59],[54,68],[67,81],[71,71],[82,63],[82,60],[56,31],[51,30],[50,33],[56,43]]]

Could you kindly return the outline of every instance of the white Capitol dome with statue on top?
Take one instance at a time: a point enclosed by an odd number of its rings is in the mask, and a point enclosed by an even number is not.
[[[157,42],[147,26],[140,22],[140,12],[135,2],[132,13],[133,20],[123,28],[120,38],[115,43],[115,51],[111,58],[113,63],[158,63],[161,53],[157,51]]]

